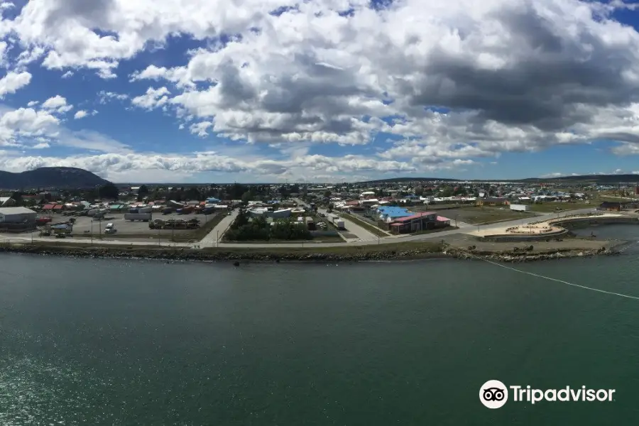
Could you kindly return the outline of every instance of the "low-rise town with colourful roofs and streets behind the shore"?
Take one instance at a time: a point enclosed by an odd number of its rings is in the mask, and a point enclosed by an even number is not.
[[[593,182],[9,188],[0,197],[0,234],[14,241],[56,238],[92,244],[381,244],[404,241],[398,237],[407,235],[432,239],[513,221],[525,224],[561,212],[633,211],[639,209],[638,197],[634,184]]]

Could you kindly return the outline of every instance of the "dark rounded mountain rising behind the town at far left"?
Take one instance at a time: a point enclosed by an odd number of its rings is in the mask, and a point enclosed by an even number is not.
[[[74,167],[43,167],[22,173],[0,171],[0,189],[94,188],[110,183],[94,173]]]

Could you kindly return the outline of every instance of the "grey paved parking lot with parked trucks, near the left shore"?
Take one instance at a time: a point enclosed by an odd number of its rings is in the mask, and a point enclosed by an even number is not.
[[[161,239],[170,239],[171,236],[178,237],[183,239],[190,234],[193,234],[193,229],[149,229],[148,222],[131,222],[129,220],[124,220],[124,213],[107,213],[104,216],[104,219],[97,220],[92,217],[87,216],[64,216],[62,214],[40,214],[42,217],[51,217],[51,224],[59,223],[59,222],[67,222],[69,219],[74,218],[75,224],[73,225],[72,235],[74,238],[87,236],[90,237],[92,234],[94,237],[102,236],[107,237],[104,234],[104,228],[107,224],[114,224],[114,228],[117,230],[116,234],[109,234],[109,239],[118,239],[118,238],[161,238]],[[204,215],[204,214],[153,214],[152,220],[162,219],[180,219],[183,221],[188,221],[190,219],[199,219],[200,226],[204,226],[209,220],[213,219],[214,215]]]

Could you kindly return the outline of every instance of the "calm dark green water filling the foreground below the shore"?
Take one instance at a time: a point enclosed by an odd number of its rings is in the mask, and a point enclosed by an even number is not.
[[[632,226],[606,229],[639,240]],[[4,255],[0,264],[2,426],[639,417],[639,301],[487,263],[232,268]],[[639,295],[636,247],[518,268]],[[615,388],[616,400],[488,410],[479,388],[493,378]]]

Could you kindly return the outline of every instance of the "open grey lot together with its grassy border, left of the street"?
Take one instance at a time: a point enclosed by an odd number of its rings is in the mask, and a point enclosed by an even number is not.
[[[42,214],[41,216],[45,216]],[[62,214],[50,214],[51,223],[66,222],[70,217]],[[160,239],[163,241],[199,241],[211,231],[224,217],[224,213],[209,214],[153,214],[153,219],[200,219],[199,229],[149,229],[148,222],[131,222],[124,220],[124,213],[107,213],[102,220],[94,220],[92,217],[75,217],[73,225],[73,238],[93,239]],[[104,234],[107,224],[114,224],[116,234]]]

